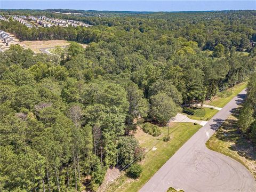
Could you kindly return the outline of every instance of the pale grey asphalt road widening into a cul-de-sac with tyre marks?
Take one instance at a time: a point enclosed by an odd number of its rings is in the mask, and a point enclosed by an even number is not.
[[[233,98],[210,121],[198,130],[140,189],[164,191],[169,187],[185,192],[256,191],[252,174],[241,163],[209,150],[205,142],[232,109],[245,97],[245,90]],[[171,141],[172,142],[172,141]]]

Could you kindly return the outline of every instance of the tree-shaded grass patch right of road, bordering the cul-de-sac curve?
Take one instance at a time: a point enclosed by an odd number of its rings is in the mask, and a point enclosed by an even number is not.
[[[227,155],[242,163],[256,179],[255,146],[237,131],[237,119],[230,116],[217,132],[206,142],[206,146],[214,151]]]

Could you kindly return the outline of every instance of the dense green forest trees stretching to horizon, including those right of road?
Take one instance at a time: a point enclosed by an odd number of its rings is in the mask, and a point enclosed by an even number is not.
[[[166,124],[182,104],[209,100],[249,76],[243,110],[251,121],[243,129],[255,142],[256,11],[1,11],[94,25],[30,29],[0,21],[21,40],[74,41],[52,55],[19,45],[0,53],[1,191],[96,190],[108,167],[143,158],[130,135],[134,119]]]

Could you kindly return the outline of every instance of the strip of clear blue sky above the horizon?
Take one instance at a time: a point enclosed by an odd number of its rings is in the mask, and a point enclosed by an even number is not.
[[[212,11],[212,10],[256,10],[254,1],[2,1],[1,9],[80,9],[108,11]]]

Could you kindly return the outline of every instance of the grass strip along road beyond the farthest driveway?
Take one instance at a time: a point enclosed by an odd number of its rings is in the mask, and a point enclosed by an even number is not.
[[[238,84],[230,89],[227,97],[215,97],[212,101],[206,102],[207,105],[212,105],[215,107],[224,107],[232,98],[234,98],[239,92],[241,92],[247,86],[247,82]]]

